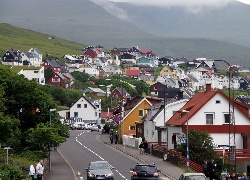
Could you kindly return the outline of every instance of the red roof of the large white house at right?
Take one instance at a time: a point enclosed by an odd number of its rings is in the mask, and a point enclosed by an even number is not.
[[[175,113],[167,122],[168,125],[182,126],[187,121],[187,116],[183,110],[189,111],[188,119],[192,118],[212,97],[221,94],[227,100],[229,98],[220,90],[199,91],[196,93],[180,110]],[[240,102],[234,101],[234,107],[250,120],[248,116],[248,107]]]

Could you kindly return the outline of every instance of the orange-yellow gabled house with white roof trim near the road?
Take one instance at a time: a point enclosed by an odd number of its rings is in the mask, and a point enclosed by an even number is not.
[[[146,109],[151,106],[152,104],[145,97],[139,101],[121,120],[119,125],[119,137],[122,138],[125,134],[136,134],[136,122],[141,121],[147,113]]]

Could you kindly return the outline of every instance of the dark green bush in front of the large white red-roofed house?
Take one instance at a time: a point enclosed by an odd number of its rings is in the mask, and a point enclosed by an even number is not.
[[[205,160],[219,159],[213,149],[213,138],[207,131],[190,130],[188,132],[190,160],[202,165]],[[176,150],[186,156],[186,144],[178,145]]]

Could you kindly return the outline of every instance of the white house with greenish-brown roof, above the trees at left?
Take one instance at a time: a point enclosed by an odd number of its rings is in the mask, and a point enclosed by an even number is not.
[[[21,68],[20,68],[21,67]],[[45,85],[44,67],[36,66],[13,66],[11,68],[13,72],[17,72],[19,75],[23,75],[28,80],[35,80],[38,84]]]

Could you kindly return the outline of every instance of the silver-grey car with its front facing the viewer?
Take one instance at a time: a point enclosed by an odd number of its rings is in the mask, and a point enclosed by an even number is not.
[[[91,179],[108,179],[114,180],[114,167],[107,161],[91,162],[85,170],[87,171],[87,180]]]

